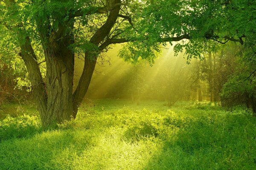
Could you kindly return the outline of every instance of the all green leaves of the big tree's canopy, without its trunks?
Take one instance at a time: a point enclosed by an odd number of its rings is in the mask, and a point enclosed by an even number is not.
[[[35,45],[40,43],[36,26],[36,20],[39,17],[44,20],[46,17],[55,15],[51,18],[52,32],[58,31],[58,23],[68,20],[70,11],[78,11],[81,7],[81,11],[86,14],[90,11],[92,14],[97,11],[98,1],[79,1],[73,4],[70,2],[63,3],[48,3],[48,1],[42,3],[38,1],[36,3],[17,2],[15,4],[16,12],[10,17],[8,14],[10,11],[5,11],[5,7],[2,7],[3,22],[5,25],[10,24],[12,20],[21,21],[24,27],[27,29],[29,36],[33,40]],[[243,36],[250,36],[255,31],[255,2],[248,0],[239,1],[223,1],[216,0],[213,3],[207,0],[172,0],[172,1],[124,1],[129,3],[124,8],[128,17],[131,17],[132,25],[121,18],[117,20],[117,23],[113,27],[113,34],[117,32],[115,38],[126,38],[129,42],[122,48],[120,56],[127,61],[137,62],[137,59],[147,59],[151,64],[154,63],[154,58],[157,57],[157,53],[160,51],[160,45],[166,45],[166,42],[159,42],[160,38],[168,38],[180,36],[183,34],[189,35],[189,41],[182,41],[175,44],[175,52],[182,52],[185,49],[187,59],[192,57],[201,57],[201,52],[204,50],[204,42],[209,39],[226,39],[229,36],[234,39],[238,39]],[[42,6],[42,4],[44,4]],[[147,5],[146,5],[147,4]],[[248,7],[248,8],[245,8]],[[170,9],[172,9],[170,11]],[[129,14],[136,15],[129,15]],[[24,17],[16,17],[24,16]],[[103,22],[100,20],[101,15],[86,15],[75,18],[75,29],[73,34],[76,35],[76,42],[71,45],[70,48],[76,49],[75,52],[96,51],[97,46],[91,43],[89,37],[94,34],[96,30],[102,26]],[[103,17],[104,20],[106,19]],[[103,20],[103,21],[104,21]],[[10,39],[14,33],[8,32],[6,28],[3,40],[3,48],[9,49],[9,54],[12,49],[17,49],[17,40],[15,38]],[[125,30],[125,31],[123,31]],[[8,37],[8,38],[7,38]],[[225,38],[222,38],[225,37]],[[136,40],[136,41],[135,41]],[[221,41],[219,40],[219,41]],[[8,41],[8,43],[7,43]],[[168,42],[168,40],[167,40]],[[172,44],[172,39],[169,40]],[[7,46],[8,45],[8,46]],[[38,49],[40,51],[40,49]]]

